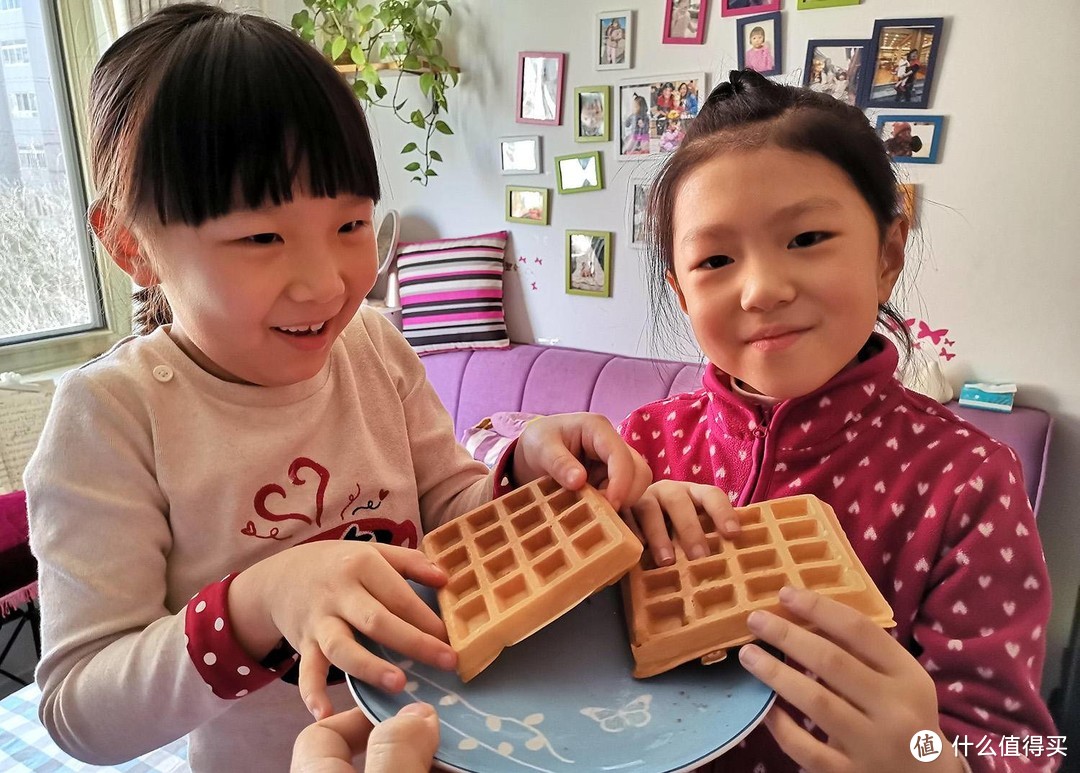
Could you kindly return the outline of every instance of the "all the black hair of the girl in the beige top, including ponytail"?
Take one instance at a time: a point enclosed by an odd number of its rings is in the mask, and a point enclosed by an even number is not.
[[[379,199],[356,97],[319,51],[268,18],[202,3],[153,13],[98,60],[90,109],[97,206],[117,225],[199,226],[291,201],[297,184],[314,196]],[[171,317],[148,289],[136,296],[141,331]]]

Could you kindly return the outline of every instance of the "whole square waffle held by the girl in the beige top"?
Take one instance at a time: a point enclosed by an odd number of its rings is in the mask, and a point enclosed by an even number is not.
[[[469,681],[637,564],[642,543],[594,488],[534,480],[440,526],[421,550],[449,574],[438,606]]]

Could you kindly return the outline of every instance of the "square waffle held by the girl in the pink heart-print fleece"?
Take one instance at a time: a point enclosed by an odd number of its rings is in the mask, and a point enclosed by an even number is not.
[[[754,640],[746,618],[765,609],[792,620],[780,604],[784,585],[808,587],[895,625],[833,508],[812,494],[737,507],[742,525],[724,540],[699,514],[710,553],[690,560],[675,542],[675,564],[657,567],[646,552],[622,583],[634,676],[649,677],[701,657],[716,663]],[[799,621],[800,623],[802,621]]]

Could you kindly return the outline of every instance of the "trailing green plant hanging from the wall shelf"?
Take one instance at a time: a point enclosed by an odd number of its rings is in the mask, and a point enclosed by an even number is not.
[[[436,177],[434,164],[443,157],[432,147],[436,134],[454,134],[444,120],[446,92],[458,83],[459,71],[443,56],[438,31],[453,13],[448,0],[303,0],[293,16],[293,28],[337,66],[365,105],[387,108],[423,132],[422,141],[402,148],[409,157],[405,171],[427,186]],[[424,103],[417,107],[401,95],[405,73],[419,76]],[[383,83],[393,74],[392,91]],[[390,80],[390,78],[387,78]]]

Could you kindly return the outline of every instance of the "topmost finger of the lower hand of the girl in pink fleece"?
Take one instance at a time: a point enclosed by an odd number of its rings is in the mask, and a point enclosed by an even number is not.
[[[846,604],[797,587],[784,588],[780,600],[785,609],[812,623],[840,649],[882,674],[902,672],[915,663],[881,626]]]

